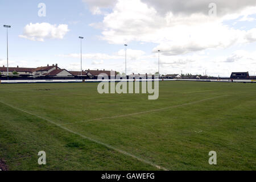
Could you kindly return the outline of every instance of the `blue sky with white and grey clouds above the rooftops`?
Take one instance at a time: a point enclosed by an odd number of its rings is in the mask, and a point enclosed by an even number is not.
[[[256,72],[255,0],[1,0],[0,12],[1,24],[11,25],[10,67],[79,71],[84,36],[83,69],[125,72],[128,44],[127,73],[158,71],[158,49],[160,74]]]

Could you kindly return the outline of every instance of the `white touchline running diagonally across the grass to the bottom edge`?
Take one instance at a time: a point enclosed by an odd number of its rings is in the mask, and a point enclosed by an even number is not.
[[[138,156],[135,156],[135,155],[133,155],[133,154],[130,154],[129,152],[126,152],[126,151],[123,151],[123,150],[119,150],[118,148],[115,148],[115,147],[113,147],[113,146],[110,146],[109,144],[100,142],[100,141],[98,141],[98,140],[96,140],[96,139],[93,139],[93,138],[90,138],[90,137],[86,137],[85,135],[82,135],[82,134],[80,134],[80,133],[77,133],[77,132],[75,132],[75,131],[72,131],[72,130],[68,129],[67,127],[61,126],[60,124],[55,123],[55,122],[53,122],[53,121],[51,121],[51,120],[49,120],[49,119],[40,117],[39,115],[30,113],[30,112],[28,112],[28,111],[26,111],[26,110],[19,109],[18,107],[12,106],[12,105],[10,105],[10,104],[6,104],[5,102],[2,102],[2,101],[0,101],[0,102],[1,102],[2,104],[5,104],[5,105],[7,105],[7,106],[13,108],[13,109],[22,111],[23,113],[27,113],[27,114],[30,114],[30,115],[34,115],[35,117],[38,117],[38,118],[40,118],[40,119],[43,119],[44,121],[48,121],[48,122],[52,123],[53,125],[59,126],[59,127],[60,127],[61,129],[63,129],[63,130],[67,130],[67,131],[69,131],[70,133],[79,135],[79,136],[82,137],[82,138],[85,138],[85,139],[88,139],[88,140],[90,140],[90,141],[92,141],[92,142],[101,144],[102,146],[105,146],[105,147],[107,147],[107,148],[110,148],[110,149],[112,149],[112,150],[114,150],[114,151],[117,151],[117,152],[123,154],[123,155],[130,156],[131,158],[137,159],[137,160],[139,160],[139,161],[141,161],[141,162],[143,162],[143,163],[146,163],[146,164],[150,164],[151,166],[156,167],[156,168],[158,168],[158,169],[163,169],[164,171],[168,171],[168,169],[166,169],[166,168],[164,168],[164,167],[161,167],[161,166],[158,166],[158,165],[156,165],[156,164],[154,164],[154,163],[152,163],[152,162],[150,162],[150,161],[148,161],[148,160],[139,158]]]

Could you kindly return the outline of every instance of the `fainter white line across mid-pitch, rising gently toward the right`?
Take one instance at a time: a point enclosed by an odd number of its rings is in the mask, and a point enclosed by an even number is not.
[[[224,96],[227,96],[227,95],[224,95]],[[200,101],[194,101],[194,102],[189,102],[189,103],[175,105],[175,106],[163,107],[161,109],[146,110],[146,111],[142,111],[142,112],[138,112],[138,113],[114,115],[114,116],[105,117],[105,118],[95,118],[95,119],[89,119],[89,120],[86,120],[86,121],[79,121],[79,122],[72,122],[72,123],[61,123],[61,125],[71,125],[71,124],[75,124],[75,123],[84,123],[84,122],[89,122],[89,121],[99,121],[99,120],[102,120],[102,119],[113,119],[113,118],[121,118],[121,117],[127,117],[127,116],[131,116],[131,115],[137,115],[137,114],[151,113],[151,112],[154,112],[154,111],[161,111],[161,110],[171,109],[171,108],[175,108],[175,107],[181,107],[181,106],[196,104],[198,102],[213,100],[214,98],[219,98],[219,97],[224,97],[224,96],[205,98],[204,100],[200,100]]]

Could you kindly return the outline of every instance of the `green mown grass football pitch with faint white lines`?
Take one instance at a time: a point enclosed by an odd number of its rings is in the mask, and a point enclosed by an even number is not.
[[[165,81],[148,100],[96,83],[0,84],[0,159],[10,170],[255,170],[255,91]]]

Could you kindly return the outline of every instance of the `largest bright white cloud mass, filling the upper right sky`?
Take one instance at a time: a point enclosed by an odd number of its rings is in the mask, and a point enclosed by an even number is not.
[[[230,6],[229,3],[218,1],[218,6],[221,6],[223,11],[226,10],[226,13],[217,17],[203,13],[201,8],[205,3],[201,0],[195,4],[194,1],[174,1],[174,7],[168,6],[168,2],[172,1],[155,2],[169,8],[166,14],[159,14],[159,8],[152,1],[146,3],[140,0],[119,0],[112,13],[106,14],[102,22],[90,25],[102,28],[101,39],[109,43],[157,43],[159,46],[155,47],[153,52],[160,49],[165,55],[181,55],[209,48],[227,48],[256,41],[254,30],[246,32],[223,23],[224,20],[255,14],[256,7],[251,7],[255,5],[254,1],[237,1],[237,5]],[[184,5],[186,9],[179,9],[177,5]],[[192,9],[190,14],[184,12],[187,9]],[[205,9],[208,12],[208,4]]]

